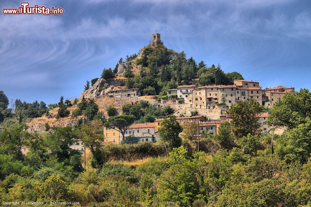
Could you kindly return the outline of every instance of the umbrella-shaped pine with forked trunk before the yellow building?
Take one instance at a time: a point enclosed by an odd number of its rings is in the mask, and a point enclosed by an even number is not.
[[[105,127],[113,128],[115,127],[115,130],[119,131],[122,134],[122,141],[125,140],[125,131],[128,129],[128,127],[133,124],[135,121],[134,115],[118,115],[118,116],[112,116],[109,117],[107,122],[105,123]]]

